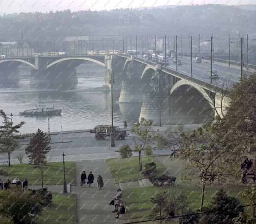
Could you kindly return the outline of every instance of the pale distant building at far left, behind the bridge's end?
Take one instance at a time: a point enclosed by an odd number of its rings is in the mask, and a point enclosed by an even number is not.
[[[34,48],[26,40],[0,42],[0,54],[5,57],[34,56]]]

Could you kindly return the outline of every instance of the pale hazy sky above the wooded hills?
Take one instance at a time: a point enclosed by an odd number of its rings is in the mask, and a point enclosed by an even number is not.
[[[110,10],[127,7],[152,7],[188,4],[256,4],[256,0],[0,0],[0,14],[20,12],[46,12],[70,9]]]

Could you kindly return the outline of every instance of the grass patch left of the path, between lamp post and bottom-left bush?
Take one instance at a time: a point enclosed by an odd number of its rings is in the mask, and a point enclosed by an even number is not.
[[[43,209],[35,223],[76,224],[77,195],[53,193],[51,205]]]

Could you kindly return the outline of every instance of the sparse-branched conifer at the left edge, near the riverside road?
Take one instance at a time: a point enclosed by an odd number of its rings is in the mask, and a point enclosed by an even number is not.
[[[21,121],[17,125],[13,125],[10,118],[7,117],[3,110],[0,110],[0,116],[4,119],[2,122],[4,125],[0,126],[0,152],[8,154],[8,164],[11,166],[10,155],[19,147],[17,139],[22,138],[19,135],[13,135],[13,133],[19,133],[18,129],[21,128],[25,122]]]

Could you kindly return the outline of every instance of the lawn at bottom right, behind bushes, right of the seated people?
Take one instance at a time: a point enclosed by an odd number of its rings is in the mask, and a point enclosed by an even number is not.
[[[188,205],[193,211],[196,211],[200,208],[201,204],[201,188],[195,188],[189,186],[187,188],[179,186],[180,189],[185,191],[185,194],[188,195]],[[221,187],[206,187],[205,188],[205,198],[204,198],[204,206],[210,204],[212,200],[212,196],[219,190]],[[238,199],[245,205],[249,204],[248,201],[241,198],[241,190],[245,188],[242,187],[234,187],[234,188],[224,188],[225,191],[229,192],[232,196],[237,196]],[[130,222],[135,222],[139,220],[147,220],[149,211],[152,208],[152,203],[150,199],[156,193],[164,191],[165,188],[159,188],[155,186],[144,187],[144,188],[133,188],[129,190],[123,191],[123,201],[125,200],[125,206],[128,207],[128,217]],[[249,208],[249,207],[248,207]],[[250,209],[250,208],[249,208]],[[245,208],[245,211],[246,210]],[[196,211],[198,212],[198,211]]]

